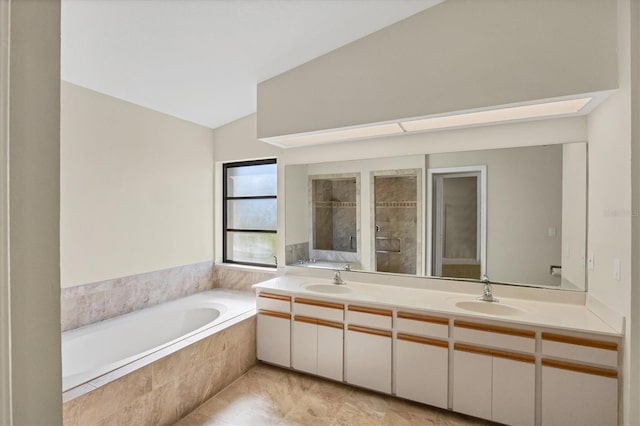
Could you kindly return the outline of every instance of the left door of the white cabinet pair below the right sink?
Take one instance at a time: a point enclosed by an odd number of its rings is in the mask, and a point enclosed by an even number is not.
[[[456,350],[453,354],[453,410],[491,419],[493,357]]]

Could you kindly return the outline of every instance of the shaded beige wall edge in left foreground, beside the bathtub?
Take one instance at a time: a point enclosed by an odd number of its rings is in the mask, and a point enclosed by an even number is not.
[[[10,71],[13,422],[54,425],[62,423],[59,0],[11,2]]]

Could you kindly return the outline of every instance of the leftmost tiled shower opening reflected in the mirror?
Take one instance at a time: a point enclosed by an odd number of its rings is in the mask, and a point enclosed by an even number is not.
[[[313,248],[357,249],[356,179],[313,180]]]

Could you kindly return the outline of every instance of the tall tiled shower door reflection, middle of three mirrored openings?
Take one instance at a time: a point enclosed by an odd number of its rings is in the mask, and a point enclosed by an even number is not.
[[[416,273],[417,177],[375,176],[376,271]]]

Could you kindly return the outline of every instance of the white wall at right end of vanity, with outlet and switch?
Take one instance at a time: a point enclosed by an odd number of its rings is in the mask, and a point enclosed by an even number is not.
[[[629,321],[631,298],[631,91],[630,2],[618,1],[619,90],[589,115],[588,253],[595,265],[588,270],[590,299],[627,318],[625,334],[639,327]],[[620,281],[613,262],[622,265]],[[635,259],[637,261],[637,259]],[[634,285],[639,285],[635,283]],[[592,303],[594,304],[594,303]],[[629,423],[631,344],[624,345],[624,419]]]

